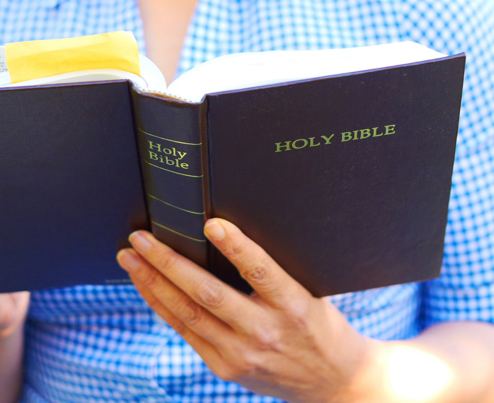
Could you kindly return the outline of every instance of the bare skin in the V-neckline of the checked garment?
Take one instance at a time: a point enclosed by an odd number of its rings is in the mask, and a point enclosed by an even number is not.
[[[197,0],[139,0],[146,52],[165,76],[173,80],[182,43]]]

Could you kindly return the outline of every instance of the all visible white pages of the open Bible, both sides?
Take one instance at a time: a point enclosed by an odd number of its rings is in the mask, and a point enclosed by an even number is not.
[[[129,79],[144,92],[160,92],[191,102],[201,102],[208,93],[378,69],[444,56],[414,42],[346,49],[235,53],[195,67],[174,80],[166,89],[165,78],[158,67],[139,55],[140,76],[122,70],[93,69],[11,84],[8,72],[3,72],[0,73],[0,87]]]

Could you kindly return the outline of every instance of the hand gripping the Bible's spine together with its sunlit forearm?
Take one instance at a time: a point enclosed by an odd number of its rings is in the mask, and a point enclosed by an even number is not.
[[[224,284],[146,231],[118,261],[138,291],[219,377],[293,403],[492,403],[494,326],[450,322],[406,341],[352,329],[228,221],[206,237],[252,286]]]

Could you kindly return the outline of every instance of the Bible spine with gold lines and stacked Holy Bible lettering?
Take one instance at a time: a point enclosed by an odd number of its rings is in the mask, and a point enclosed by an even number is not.
[[[205,267],[201,127],[205,104],[131,90],[153,234]]]

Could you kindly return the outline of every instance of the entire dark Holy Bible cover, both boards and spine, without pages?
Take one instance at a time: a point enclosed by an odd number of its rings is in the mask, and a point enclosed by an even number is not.
[[[233,286],[237,224],[314,295],[439,275],[464,55],[206,95],[0,91],[0,291],[128,282],[134,229]],[[3,106],[7,105],[8,108]]]

